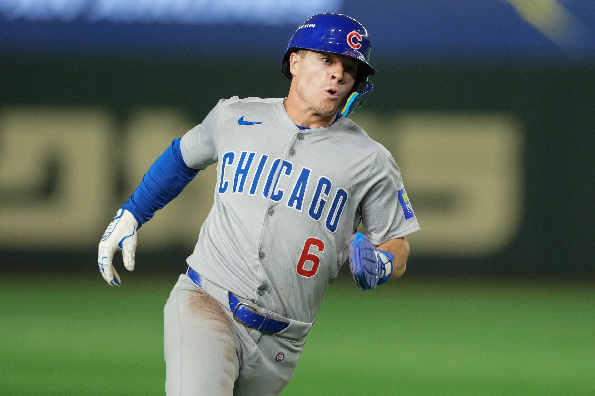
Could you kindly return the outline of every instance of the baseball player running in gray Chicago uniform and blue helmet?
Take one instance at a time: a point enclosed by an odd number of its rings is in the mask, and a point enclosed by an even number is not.
[[[347,259],[362,290],[405,271],[419,225],[399,168],[348,118],[372,90],[369,54],[358,21],[309,18],[283,57],[287,98],[221,99],[109,224],[99,269],[120,285],[115,251],[132,271],[137,230],[217,163],[215,203],[164,308],[167,395],[280,394]]]

